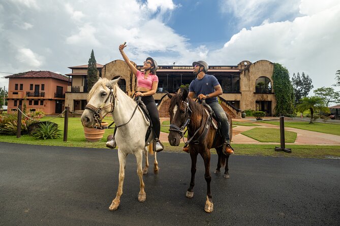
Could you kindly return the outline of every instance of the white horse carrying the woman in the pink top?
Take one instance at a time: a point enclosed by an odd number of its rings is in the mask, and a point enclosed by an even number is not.
[[[111,112],[112,118],[118,127],[115,140],[118,146],[119,184],[117,195],[109,207],[111,211],[118,208],[120,196],[123,193],[125,165],[128,154],[135,155],[137,160],[137,174],[140,181],[138,201],[145,201],[146,194],[144,191],[143,174],[147,173],[149,166],[146,145],[152,141],[151,132],[148,140],[145,142],[145,134],[149,122],[146,120],[142,110],[137,107],[137,103],[118,87],[118,80],[99,79],[88,93],[87,105],[81,116],[83,126],[92,128],[96,126],[96,123],[101,124],[101,120],[105,115]],[[145,154],[144,170],[142,169],[143,152]],[[156,155],[156,152],[154,152],[153,171],[155,174],[159,171]]]

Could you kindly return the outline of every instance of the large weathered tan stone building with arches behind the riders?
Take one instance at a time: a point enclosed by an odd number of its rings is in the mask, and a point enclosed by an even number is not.
[[[136,65],[141,70],[142,65]],[[65,106],[70,110],[82,112],[86,105],[87,65],[69,67],[72,73],[72,85],[66,92]],[[113,80],[120,77],[119,87],[132,96],[137,88],[135,76],[123,60],[114,60],[105,65],[97,64],[98,77]],[[221,84],[223,94],[219,97],[222,107],[233,117],[240,118],[246,109],[262,110],[271,116],[276,105],[272,89],[273,63],[259,60],[255,63],[241,61],[237,65],[209,66],[208,74],[213,74]],[[175,93],[181,87],[188,87],[195,79],[192,65],[159,65],[158,90],[154,95],[160,111],[160,117],[167,118],[169,99],[167,92]]]

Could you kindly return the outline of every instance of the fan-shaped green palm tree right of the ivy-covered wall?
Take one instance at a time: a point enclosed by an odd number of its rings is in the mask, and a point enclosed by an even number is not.
[[[314,111],[329,112],[328,107],[325,105],[324,99],[318,96],[303,97],[302,99],[300,99],[299,103],[296,105],[296,108],[301,113],[308,109],[311,110],[310,123],[313,123]]]

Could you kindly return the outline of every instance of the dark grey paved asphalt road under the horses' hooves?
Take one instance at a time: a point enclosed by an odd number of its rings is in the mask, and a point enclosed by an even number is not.
[[[158,160],[139,203],[128,157],[120,207],[110,212],[115,150],[0,143],[0,225],[340,225],[339,160],[232,156],[230,179],[212,174],[210,214],[202,159],[192,199],[190,156],[163,152]]]

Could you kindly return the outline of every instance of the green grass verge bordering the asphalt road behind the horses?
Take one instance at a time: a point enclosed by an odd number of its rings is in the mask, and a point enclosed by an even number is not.
[[[50,120],[52,118],[45,117],[42,121]],[[112,121],[106,120],[109,124]],[[64,118],[53,119],[59,125],[59,129],[63,134],[64,131]],[[167,128],[168,129],[168,128]],[[261,128],[255,128],[261,129]],[[287,131],[286,131],[287,132]],[[35,140],[29,135],[22,135],[20,138],[16,138],[15,135],[6,136],[0,135],[1,141],[11,143],[24,143],[24,144],[36,144],[47,146],[75,146],[75,147],[92,147],[92,148],[106,148],[106,137],[113,133],[113,129],[107,129],[104,134],[104,138],[99,142],[87,142],[84,138],[83,128],[80,122],[80,118],[69,119],[68,141],[64,142],[63,137],[58,139],[47,140]],[[280,142],[280,141],[278,141]],[[169,143],[164,142],[164,152],[182,152],[183,145],[170,146]],[[298,157],[298,158],[340,158],[340,146],[315,146],[315,145],[286,145],[286,147],[292,148],[292,153],[275,152],[275,145],[271,144],[233,144],[236,155],[251,155],[251,156],[273,156],[273,157]],[[46,147],[48,148],[48,147]],[[62,147],[61,147],[62,148]],[[116,150],[112,150],[116,152]],[[215,150],[211,149],[211,153],[215,154]],[[162,155],[162,153],[160,153]],[[187,155],[183,153],[183,155]],[[189,155],[188,158],[190,159]],[[214,164],[214,163],[213,163]]]

